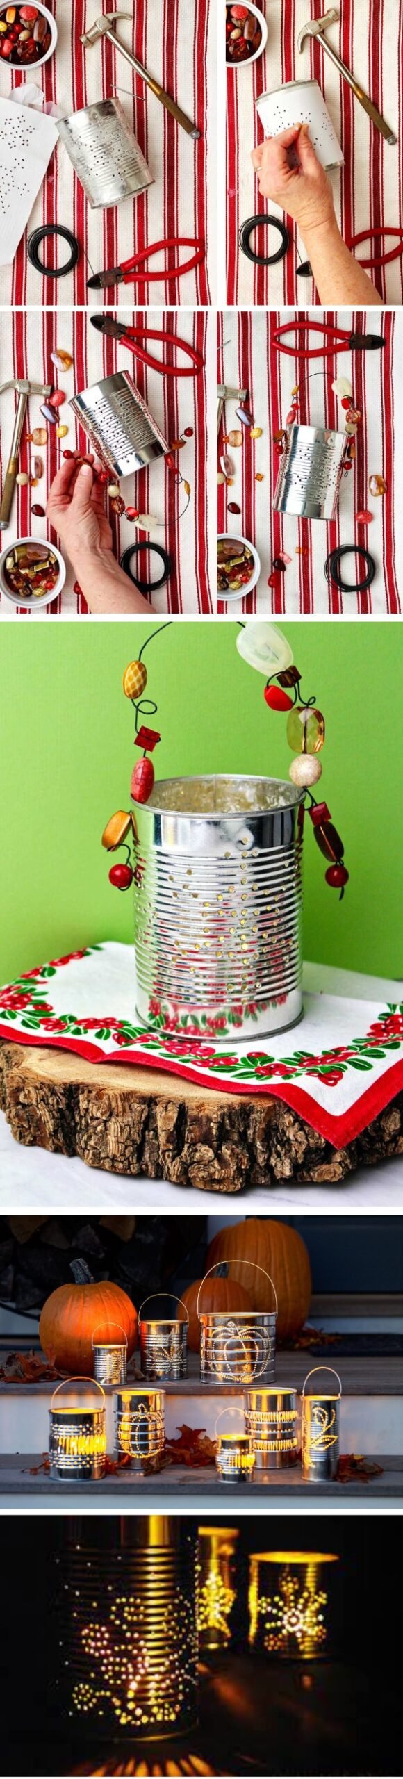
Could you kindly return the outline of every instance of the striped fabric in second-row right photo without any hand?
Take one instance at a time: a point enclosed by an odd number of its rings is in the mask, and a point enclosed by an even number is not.
[[[309,315],[302,317],[298,311],[298,320],[302,318],[307,320]],[[233,388],[249,390],[254,422],[263,427],[259,439],[250,439],[243,429],[243,447],[231,452],[236,470],[234,486],[229,493],[225,486],[218,487],[218,532],[241,532],[259,551],[261,578],[250,598],[243,600],[247,616],[272,612],[295,617],[311,612],[316,616],[343,612],[348,617],[359,614],[385,617],[398,614],[403,605],[403,315],[382,310],[366,310],[364,313],[314,310],[312,318],[316,322],[327,320],[346,331],[380,333],[385,338],[385,347],[380,352],[343,350],[328,359],[302,361],[277,352],[273,345],[275,327],[295,322],[295,310],[282,310],[279,315],[227,311],[218,317],[218,338],[225,342],[218,352],[218,379]],[[311,336],[311,343],[321,342]],[[332,523],[323,523],[321,519],[296,519],[291,514],[273,512],[279,473],[273,432],[284,427],[291,407],[291,390],[296,382],[300,384],[298,418],[302,425],[328,425],[344,432],[344,411],[332,391],[334,379],[343,375],[350,377],[353,384],[353,407],[360,411],[362,423],[357,427],[353,470],[341,482],[337,518]],[[222,432],[229,432],[234,425],[238,422],[231,402],[224,409]],[[256,482],[256,473],[263,473],[265,480]],[[373,498],[369,495],[371,475],[385,477],[385,496]],[[227,514],[227,500],[234,500],[241,507],[240,518]],[[373,512],[373,523],[366,528],[355,519],[362,507]],[[366,592],[337,592],[325,580],[328,551],[352,543],[364,544],[376,562],[373,585]],[[288,551],[291,562],[279,585],[272,589],[268,575],[282,550]],[[305,553],[296,555],[296,550]],[[343,566],[343,578],[352,582],[360,578],[362,562],[346,557]],[[236,616],[241,612],[241,603],[220,605],[218,610]]]

